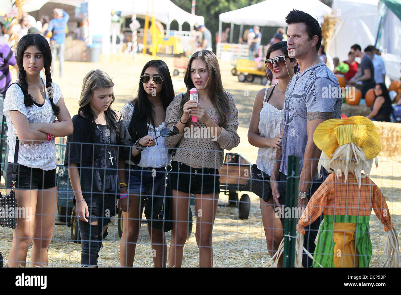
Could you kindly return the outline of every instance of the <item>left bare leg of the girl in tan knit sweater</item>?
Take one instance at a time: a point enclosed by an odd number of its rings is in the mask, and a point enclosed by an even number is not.
[[[188,237],[189,194],[172,190],[172,220],[171,243],[168,251],[168,266],[181,267],[182,253]]]

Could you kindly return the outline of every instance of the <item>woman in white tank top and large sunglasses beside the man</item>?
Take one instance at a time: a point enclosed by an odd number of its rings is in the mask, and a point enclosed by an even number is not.
[[[271,45],[267,50],[266,59],[265,69],[271,70],[278,83],[257,92],[249,122],[248,141],[259,148],[256,165],[264,174],[264,178],[269,179],[272,173],[278,174],[278,171],[273,171],[273,166],[276,153],[281,153],[282,149],[284,99],[288,83],[298,69],[298,63],[296,59],[288,57],[287,41]],[[274,214],[275,203],[269,186],[263,196],[259,197],[267,251],[273,256],[283,238],[283,228],[280,219]],[[279,265],[282,265],[282,262],[279,262]]]

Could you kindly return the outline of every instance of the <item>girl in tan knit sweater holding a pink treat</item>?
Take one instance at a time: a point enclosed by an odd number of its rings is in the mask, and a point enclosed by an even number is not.
[[[178,94],[166,113],[167,128],[176,125],[180,130],[180,134],[166,138],[168,147],[177,148],[171,173],[174,222],[168,261],[169,267],[181,267],[188,236],[189,197],[193,193],[199,266],[212,267],[212,230],[220,192],[219,170],[223,166],[224,150],[239,144],[238,110],[233,96],[224,91],[219,63],[213,52],[201,50],[192,55],[184,82],[186,94]],[[193,87],[198,90],[197,103],[189,99],[189,90]],[[189,128],[190,124],[193,127]],[[194,130],[194,134],[190,130]]]

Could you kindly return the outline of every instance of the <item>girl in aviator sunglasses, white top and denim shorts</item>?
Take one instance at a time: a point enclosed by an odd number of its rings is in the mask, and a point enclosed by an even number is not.
[[[134,158],[132,161],[125,161],[125,174],[119,175],[120,179],[126,179],[120,183],[121,193],[128,193],[129,196],[128,210],[123,212],[124,230],[120,243],[122,267],[132,267],[134,263],[142,211],[146,195],[149,194],[146,191],[152,192],[152,187],[164,175],[164,167],[170,163],[164,137],[158,136],[166,128],[166,109],[174,98],[172,85],[166,63],[161,60],[149,61],[142,69],[138,96],[121,110],[132,140],[136,142]],[[164,233],[149,225],[148,232],[154,266],[166,267],[167,246]]]

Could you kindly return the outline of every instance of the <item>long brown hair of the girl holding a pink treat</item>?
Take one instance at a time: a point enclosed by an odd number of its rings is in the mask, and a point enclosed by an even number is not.
[[[207,71],[209,73],[209,97],[213,103],[213,106],[219,116],[218,125],[225,126],[228,122],[228,118],[231,115],[229,108],[228,96],[223,88],[223,83],[221,82],[221,73],[219,62],[217,61],[216,55],[209,50],[196,51],[189,59],[188,66],[186,67],[184,83],[186,85],[186,95],[182,97],[181,110],[184,104],[188,101],[189,90],[195,87],[191,79],[191,64],[195,59],[201,59],[205,62],[207,66]],[[182,111],[181,115],[182,116]]]

